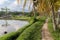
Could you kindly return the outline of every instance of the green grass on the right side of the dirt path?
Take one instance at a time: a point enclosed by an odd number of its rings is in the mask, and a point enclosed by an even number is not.
[[[48,27],[54,40],[60,40],[60,31],[53,30],[53,23],[51,22],[51,20],[48,23]]]

